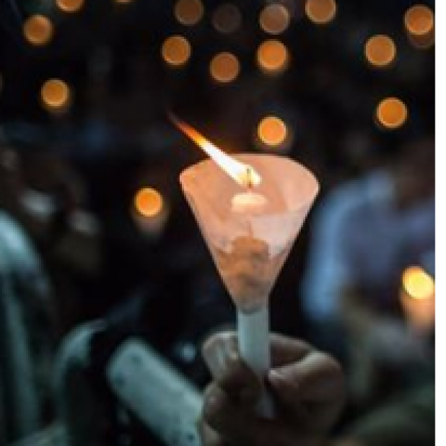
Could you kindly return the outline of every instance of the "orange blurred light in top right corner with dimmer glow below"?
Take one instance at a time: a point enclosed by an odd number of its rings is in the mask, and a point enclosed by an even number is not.
[[[425,5],[415,5],[406,11],[404,25],[409,39],[416,47],[428,48],[435,40],[434,14]]]

